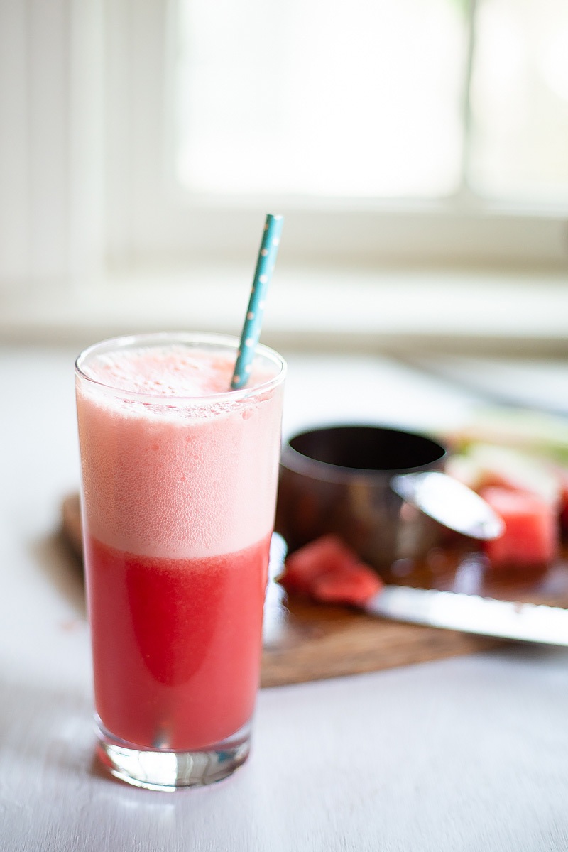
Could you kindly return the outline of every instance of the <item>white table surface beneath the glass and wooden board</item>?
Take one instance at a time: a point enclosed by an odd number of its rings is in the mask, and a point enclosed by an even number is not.
[[[55,534],[78,481],[72,355],[0,350],[1,850],[568,849],[557,648],[262,690],[250,760],[215,786],[148,792],[104,774],[83,584]],[[296,356],[284,430],[459,422],[468,406],[391,362]]]

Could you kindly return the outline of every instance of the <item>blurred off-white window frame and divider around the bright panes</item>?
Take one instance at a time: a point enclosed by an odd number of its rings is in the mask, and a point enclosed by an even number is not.
[[[177,0],[107,6],[106,219],[113,266],[249,257],[267,210],[287,216],[284,262],[565,266],[564,205],[481,199],[465,178],[454,197],[433,201],[215,196],[177,187],[171,95],[176,13]],[[474,0],[469,18],[473,26]],[[472,30],[468,67],[473,42]],[[468,114],[464,95],[466,125]],[[464,175],[467,157],[466,145]]]

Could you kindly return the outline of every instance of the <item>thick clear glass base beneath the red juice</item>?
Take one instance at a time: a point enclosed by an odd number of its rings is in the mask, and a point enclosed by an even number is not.
[[[137,748],[118,740],[97,723],[98,756],[109,772],[136,787],[172,792],[215,784],[249,757],[250,725],[203,751]]]

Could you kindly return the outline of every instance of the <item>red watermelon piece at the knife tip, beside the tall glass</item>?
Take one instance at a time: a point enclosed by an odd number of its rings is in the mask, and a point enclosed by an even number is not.
[[[372,568],[336,535],[325,535],[295,550],[286,560],[283,583],[317,601],[359,606],[382,589]]]

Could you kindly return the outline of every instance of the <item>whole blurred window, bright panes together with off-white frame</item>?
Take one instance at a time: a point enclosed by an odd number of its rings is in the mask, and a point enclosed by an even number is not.
[[[536,28],[541,10],[537,0],[117,0],[112,257],[244,258],[273,208],[289,214],[285,258],[561,266],[568,105],[556,89],[568,50],[554,45],[568,13],[546,0]],[[503,28],[516,33],[526,85],[495,47]],[[537,44],[548,65],[533,61]]]

